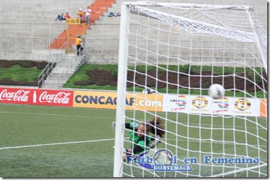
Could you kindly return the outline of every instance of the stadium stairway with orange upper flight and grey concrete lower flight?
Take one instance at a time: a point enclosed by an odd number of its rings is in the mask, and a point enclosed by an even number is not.
[[[90,5],[91,8],[91,25],[93,25],[98,18],[103,15],[105,11],[115,2],[115,0],[96,0]],[[85,13],[84,13],[85,17]],[[85,18],[84,18],[85,19]],[[75,45],[75,39],[77,34],[84,35],[86,30],[89,29],[91,25],[69,25],[68,29],[65,29],[53,43],[49,46],[51,49],[60,49],[65,41],[68,39],[67,48],[72,48]],[[51,74],[46,78],[44,84],[41,88],[46,89],[58,89],[63,86],[68,81],[68,78],[74,74],[77,69],[85,62],[85,56],[74,56],[74,51],[68,50],[65,57],[56,64]],[[72,53],[71,53],[72,52]]]

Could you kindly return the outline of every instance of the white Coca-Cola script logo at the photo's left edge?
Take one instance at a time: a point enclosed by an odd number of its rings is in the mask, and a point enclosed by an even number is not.
[[[0,92],[0,100],[8,100],[13,102],[27,102],[28,94],[30,90],[18,90],[17,92],[8,92],[8,90],[2,90]]]

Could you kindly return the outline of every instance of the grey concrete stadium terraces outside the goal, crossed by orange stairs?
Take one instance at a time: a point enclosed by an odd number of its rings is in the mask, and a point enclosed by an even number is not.
[[[97,3],[99,1],[103,4]],[[54,51],[48,48],[56,39],[65,39],[63,32],[68,28],[65,22],[55,21],[58,13],[69,12],[71,18],[75,18],[78,8],[85,9],[86,6],[91,5],[93,24],[85,28],[84,36],[86,62],[117,63],[120,17],[110,18],[108,15],[110,12],[120,12],[123,1],[129,0],[0,0],[0,57],[6,60],[50,58]],[[248,4],[255,9],[266,26],[264,13],[266,6],[262,6],[262,1],[206,0],[203,4]],[[179,3],[177,0],[163,2]],[[192,3],[196,2],[201,3],[192,1]],[[110,8],[104,7],[107,3],[111,4]],[[184,0],[181,3],[191,3],[191,1]],[[84,31],[75,31],[72,36],[82,33]],[[51,46],[51,48],[57,47]]]

